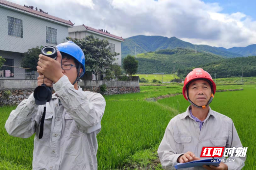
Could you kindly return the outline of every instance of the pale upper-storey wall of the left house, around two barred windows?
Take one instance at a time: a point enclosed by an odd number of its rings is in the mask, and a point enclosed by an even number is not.
[[[22,20],[23,38],[8,35],[7,16]],[[0,37],[2,40],[4,39],[4,41],[0,41],[0,50],[24,53],[29,48],[34,48],[36,46],[56,46],[54,44],[46,43],[46,26],[57,29],[58,44],[67,41],[65,40],[68,36],[67,26],[0,7]]]

